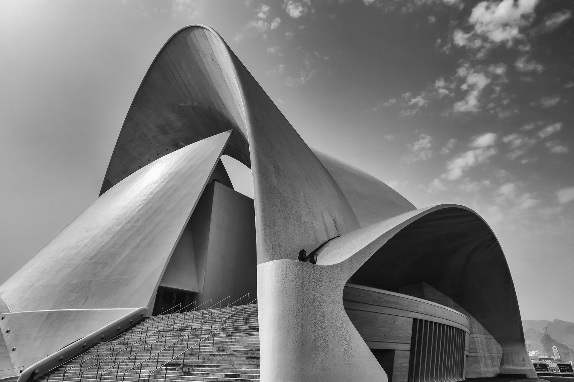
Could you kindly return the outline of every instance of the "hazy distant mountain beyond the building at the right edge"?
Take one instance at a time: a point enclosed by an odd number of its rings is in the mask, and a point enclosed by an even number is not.
[[[526,349],[530,352],[535,352],[536,356],[553,356],[552,346],[558,348],[564,361],[572,359],[570,352],[574,356],[574,350],[568,351],[568,346],[574,347],[574,322],[560,319],[554,319],[554,321],[545,319],[540,321],[524,320],[522,321],[522,328],[524,330]],[[548,328],[547,332],[540,333],[542,328]]]

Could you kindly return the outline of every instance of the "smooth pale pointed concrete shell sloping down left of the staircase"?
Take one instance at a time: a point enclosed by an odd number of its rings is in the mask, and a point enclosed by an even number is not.
[[[0,287],[11,311],[149,307],[231,132],[123,179]]]

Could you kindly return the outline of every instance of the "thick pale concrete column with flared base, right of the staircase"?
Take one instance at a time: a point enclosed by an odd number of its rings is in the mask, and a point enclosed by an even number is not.
[[[257,266],[261,382],[387,382],[343,307],[342,267]]]

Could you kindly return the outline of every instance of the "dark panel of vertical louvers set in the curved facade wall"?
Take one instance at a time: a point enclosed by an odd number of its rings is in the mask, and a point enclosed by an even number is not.
[[[454,382],[464,375],[464,330],[413,319],[409,382]]]

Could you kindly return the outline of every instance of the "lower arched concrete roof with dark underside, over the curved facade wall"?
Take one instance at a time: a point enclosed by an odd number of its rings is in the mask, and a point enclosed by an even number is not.
[[[503,348],[501,369],[528,370],[510,270],[494,233],[471,209],[438,205],[409,211],[337,237],[317,251],[349,281],[398,291],[425,282],[452,298]]]

